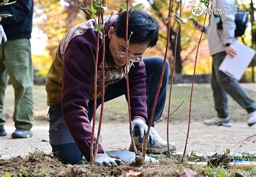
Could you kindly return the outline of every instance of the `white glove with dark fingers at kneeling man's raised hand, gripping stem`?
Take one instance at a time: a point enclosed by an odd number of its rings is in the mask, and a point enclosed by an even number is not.
[[[132,121],[132,133],[133,137],[139,136],[139,143],[142,143],[145,134],[147,133],[147,124],[141,118],[135,118]],[[156,144],[156,140],[154,139],[154,135],[150,131],[149,142],[150,146]]]

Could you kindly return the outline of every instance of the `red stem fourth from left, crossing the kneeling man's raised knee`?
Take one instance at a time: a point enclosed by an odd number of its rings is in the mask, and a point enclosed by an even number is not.
[[[153,103],[153,108],[152,108],[152,112],[151,112],[151,115],[150,115],[150,121],[149,121],[149,125],[148,125],[148,128],[147,128],[147,133],[146,133],[146,136],[144,138],[143,157],[145,157],[145,154],[146,154],[146,151],[147,151],[147,139],[149,138],[150,127],[152,125],[154,111],[156,110],[158,95],[159,95],[160,88],[161,88],[162,81],[163,81],[163,77],[164,77],[164,70],[165,70],[166,58],[167,58],[167,53],[168,53],[170,28],[171,28],[171,20],[170,20],[170,18],[171,18],[171,6],[172,6],[171,2],[172,2],[172,0],[170,0],[170,4],[169,4],[169,15],[168,15],[169,22],[167,24],[167,41],[166,41],[166,46],[165,46],[164,63],[163,63],[163,68],[161,70],[161,76],[160,76],[160,80],[159,80],[159,83],[158,83],[156,97],[154,98],[154,103]]]

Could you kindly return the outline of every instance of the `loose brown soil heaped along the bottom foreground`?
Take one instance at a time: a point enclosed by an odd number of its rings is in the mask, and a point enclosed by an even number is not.
[[[160,167],[160,168],[159,168]],[[164,171],[163,171],[164,169]],[[11,160],[0,160],[0,175],[7,172],[10,175],[33,176],[124,176],[130,170],[141,172],[146,176],[174,175],[180,176],[181,167],[173,162],[160,162],[158,165],[124,163],[118,167],[106,167],[98,165],[62,165],[57,159],[42,156],[35,162],[29,162],[20,156]]]

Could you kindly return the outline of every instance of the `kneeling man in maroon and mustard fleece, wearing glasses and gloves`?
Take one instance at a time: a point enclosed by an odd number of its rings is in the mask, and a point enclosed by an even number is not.
[[[105,102],[126,95],[125,79],[125,24],[126,12],[108,21],[105,16],[106,51],[102,63],[103,48],[99,48],[97,107],[102,100],[102,65],[105,66]],[[50,144],[55,157],[65,164],[79,164],[83,156],[90,161],[91,120],[93,117],[93,83],[97,46],[96,22],[94,19],[73,27],[60,41],[46,80],[47,103],[50,106]],[[158,82],[163,67],[163,58],[143,58],[148,47],[156,45],[159,26],[156,20],[139,10],[130,12],[130,45],[128,51],[129,87],[132,127],[137,135],[134,139],[141,150],[142,140],[147,131]],[[100,45],[102,46],[102,45]],[[164,110],[169,77],[169,63],[166,63],[163,84],[160,89],[153,122]],[[118,134],[118,130],[116,130]],[[127,131],[129,133],[129,131]],[[176,145],[170,143],[170,149]],[[132,151],[132,149],[131,149]],[[154,128],[150,128],[147,152],[166,153],[167,143]],[[99,145],[96,162],[99,165],[117,166],[120,161],[105,155]]]

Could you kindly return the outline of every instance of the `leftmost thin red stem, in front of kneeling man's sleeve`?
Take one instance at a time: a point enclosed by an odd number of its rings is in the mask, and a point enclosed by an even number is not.
[[[100,12],[98,16],[98,24],[100,23]],[[97,72],[98,72],[98,57],[99,57],[99,32],[97,34],[97,47],[96,47],[96,61],[95,61],[95,76],[94,76],[94,104],[93,104],[93,120],[92,120],[92,136],[90,146],[90,160],[93,163],[93,143],[94,143],[94,130],[96,123],[96,110],[97,110]]]

